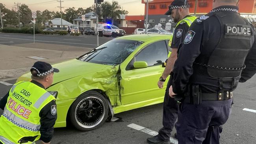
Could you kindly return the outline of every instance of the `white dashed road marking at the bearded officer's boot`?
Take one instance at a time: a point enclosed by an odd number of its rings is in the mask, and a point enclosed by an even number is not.
[[[158,135],[158,132],[152,131],[151,129],[147,129],[147,128],[139,126],[137,124],[129,124],[128,127],[131,127],[133,129],[136,129],[136,130],[141,131],[143,133],[147,133],[148,135],[152,135],[152,136]],[[170,142],[173,143],[173,144],[178,144],[178,140],[176,138],[170,137]]]

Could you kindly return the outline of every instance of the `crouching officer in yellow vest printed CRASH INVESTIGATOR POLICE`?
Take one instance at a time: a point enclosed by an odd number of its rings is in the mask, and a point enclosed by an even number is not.
[[[52,85],[54,72],[49,63],[37,61],[32,81],[20,81],[0,101],[0,144],[50,144],[57,119],[56,98],[45,89]]]

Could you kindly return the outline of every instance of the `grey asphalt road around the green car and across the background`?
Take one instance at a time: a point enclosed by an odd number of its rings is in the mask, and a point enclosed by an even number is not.
[[[33,42],[33,35],[0,33],[0,44],[24,44]],[[68,39],[68,40],[67,40]],[[72,39],[72,40],[71,40]],[[110,37],[100,37],[100,44],[109,41]],[[96,36],[69,37],[58,35],[36,35],[37,42],[65,44],[71,46],[96,46]],[[80,41],[78,41],[80,40]],[[50,42],[49,42],[50,41]],[[1,43],[2,42],[2,43]],[[67,42],[67,43],[63,43]],[[16,79],[0,81],[0,99],[9,91]],[[246,83],[239,83],[234,93],[234,105],[228,122],[223,126],[221,144],[256,144],[256,76]],[[10,85],[8,85],[8,83]],[[245,111],[252,109],[254,112]],[[244,110],[243,110],[244,109]],[[2,114],[2,110],[0,110]],[[162,127],[162,104],[134,109],[115,114],[116,122],[106,122],[102,127],[92,131],[78,131],[74,127],[54,129],[51,144],[147,144],[146,138],[151,135],[128,127],[136,124],[152,131]],[[172,136],[175,133],[172,133]],[[37,142],[37,144],[40,144]]]

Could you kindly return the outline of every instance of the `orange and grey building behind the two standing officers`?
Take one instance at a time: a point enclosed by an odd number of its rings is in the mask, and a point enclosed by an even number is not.
[[[191,14],[201,16],[208,13],[212,9],[213,0],[188,0],[189,11]],[[168,6],[173,0],[148,0],[148,28],[163,28],[168,31],[173,31],[176,23],[173,23],[173,18],[170,15],[164,15],[168,10]],[[145,4],[145,19],[147,0],[141,0]],[[256,0],[240,0],[239,13],[246,17],[247,20],[256,25]]]

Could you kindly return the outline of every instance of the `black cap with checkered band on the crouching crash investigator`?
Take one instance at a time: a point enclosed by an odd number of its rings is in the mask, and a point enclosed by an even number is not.
[[[33,76],[45,76],[51,72],[59,72],[57,68],[53,68],[49,63],[43,61],[37,61],[31,67],[30,72],[35,70],[37,74],[32,74]]]

